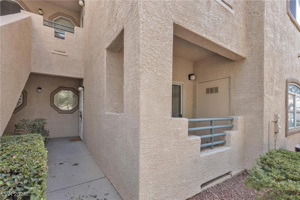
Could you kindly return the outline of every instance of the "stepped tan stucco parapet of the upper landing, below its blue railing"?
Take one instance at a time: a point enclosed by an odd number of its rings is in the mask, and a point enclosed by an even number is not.
[[[32,73],[83,78],[83,29],[65,33],[65,39],[54,37],[54,28],[44,26],[43,16],[32,16]],[[60,55],[52,51],[62,51]]]

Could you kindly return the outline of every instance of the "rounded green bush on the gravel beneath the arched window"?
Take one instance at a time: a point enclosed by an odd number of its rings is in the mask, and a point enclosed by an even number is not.
[[[285,149],[270,150],[256,159],[246,187],[265,191],[263,199],[300,199],[300,153]]]

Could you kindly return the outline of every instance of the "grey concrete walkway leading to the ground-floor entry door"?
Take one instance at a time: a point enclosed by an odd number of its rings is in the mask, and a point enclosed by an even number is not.
[[[50,138],[46,148],[47,200],[121,199],[82,141]]]

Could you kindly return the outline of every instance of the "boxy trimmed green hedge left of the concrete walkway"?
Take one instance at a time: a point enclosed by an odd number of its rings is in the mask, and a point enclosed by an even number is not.
[[[47,151],[40,134],[3,135],[0,189],[4,199],[45,199]]]

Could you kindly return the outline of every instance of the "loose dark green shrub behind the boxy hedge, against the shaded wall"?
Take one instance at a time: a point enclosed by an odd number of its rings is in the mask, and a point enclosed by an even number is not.
[[[49,136],[49,130],[45,129],[45,125],[47,124],[46,119],[37,118],[33,121],[23,119],[20,121],[21,123],[15,124],[15,130],[13,131],[13,135],[20,135],[21,132],[25,132],[25,134],[41,134],[44,137],[44,139],[46,139]]]

